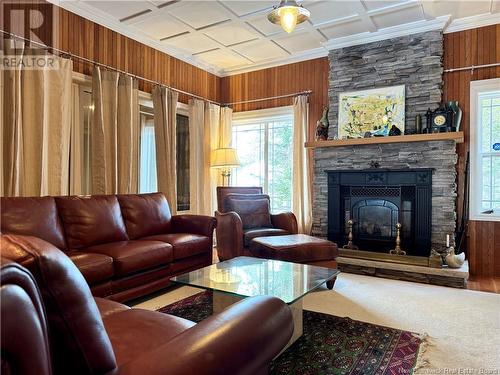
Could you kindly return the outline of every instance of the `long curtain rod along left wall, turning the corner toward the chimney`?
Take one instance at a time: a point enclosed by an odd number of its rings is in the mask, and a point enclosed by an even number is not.
[[[40,47],[42,47],[43,49],[47,49],[49,50],[49,52],[51,52],[50,50],[52,51],[56,51],[57,53],[59,53],[60,55],[67,55],[67,56],[70,56],[70,58],[72,59],[76,59],[76,60],[81,60],[83,62],[86,62],[88,64],[92,64],[92,65],[97,65],[97,66],[101,66],[103,68],[106,68],[106,69],[109,69],[109,70],[113,70],[115,72],[118,72],[118,73],[122,73],[122,74],[126,74],[130,77],[133,77],[133,78],[136,78],[138,80],[141,80],[141,81],[144,81],[144,82],[148,82],[148,83],[151,83],[153,85],[159,85],[159,86],[163,86],[163,87],[166,87],[166,88],[169,88],[173,91],[176,91],[180,94],[184,94],[184,95],[187,95],[187,96],[190,96],[192,98],[196,98],[196,99],[200,99],[200,100],[204,100],[204,101],[207,101],[209,103],[213,103],[213,104],[217,104],[219,106],[224,106],[224,107],[227,107],[227,106],[230,106],[230,105],[235,105],[235,104],[243,104],[243,103],[254,103],[254,102],[260,102],[260,101],[265,101],[265,100],[272,100],[272,99],[280,99],[280,98],[288,98],[288,97],[291,97],[291,96],[298,96],[298,95],[309,95],[312,93],[312,90],[307,90],[307,91],[301,91],[301,92],[297,92],[297,93],[292,93],[292,94],[285,94],[285,95],[278,95],[278,96],[272,96],[272,97],[268,97],[268,98],[260,98],[260,99],[251,99],[251,100],[242,100],[242,101],[238,101],[238,102],[232,102],[232,103],[220,103],[220,102],[217,102],[215,100],[210,100],[210,99],[207,99],[207,98],[204,98],[200,95],[196,95],[196,94],[193,94],[193,93],[190,93],[190,92],[187,92],[187,91],[184,91],[184,90],[180,90],[180,89],[176,89],[175,87],[171,87],[171,86],[168,86],[168,85],[165,85],[163,83],[160,83],[158,81],[153,81],[151,79],[148,79],[148,78],[145,78],[145,77],[141,77],[141,76],[138,76],[136,74],[132,74],[132,73],[128,73],[128,72],[125,72],[123,70],[120,70],[118,68],[115,68],[113,66],[109,66],[109,65],[106,65],[106,64],[102,64],[100,62],[97,62],[97,61],[94,61],[94,60],[90,60],[90,59],[87,59],[86,57],[83,57],[83,56],[79,56],[79,55],[75,55],[74,53],[71,53],[71,52],[67,52],[67,51],[63,51],[61,49],[58,49],[58,48],[55,48],[55,47],[51,47],[51,46],[47,46],[43,43],[39,43],[39,42],[36,42],[34,40],[31,40],[31,39],[27,39],[27,38],[24,38],[20,35],[17,35],[17,34],[14,34],[14,33],[11,33],[9,31],[5,31],[5,30],[1,30],[0,29],[0,32],[2,34],[5,34],[5,35],[8,35],[10,37],[13,37],[13,38],[17,38],[17,39],[20,39],[20,40],[23,40],[25,42],[28,42],[30,44],[35,44],[35,45],[38,45]]]

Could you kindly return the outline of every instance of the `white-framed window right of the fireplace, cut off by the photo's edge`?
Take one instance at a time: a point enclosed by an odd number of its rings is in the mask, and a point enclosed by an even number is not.
[[[500,221],[500,79],[471,82],[472,220]]]

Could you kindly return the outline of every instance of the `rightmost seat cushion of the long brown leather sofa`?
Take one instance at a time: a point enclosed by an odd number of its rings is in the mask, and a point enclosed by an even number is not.
[[[160,234],[142,238],[143,240],[163,241],[174,248],[174,259],[188,258],[193,255],[209,253],[212,243],[209,237],[190,233]]]

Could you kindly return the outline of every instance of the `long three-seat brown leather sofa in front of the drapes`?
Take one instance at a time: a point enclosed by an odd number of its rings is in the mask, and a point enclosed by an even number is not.
[[[95,296],[127,301],[212,263],[215,219],[174,215],[161,193],[1,198],[1,231],[63,250]]]

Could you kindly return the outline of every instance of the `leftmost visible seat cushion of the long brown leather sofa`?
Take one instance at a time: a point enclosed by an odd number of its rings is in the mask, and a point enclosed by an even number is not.
[[[70,251],[69,258],[76,264],[90,286],[113,277],[113,258],[102,254]]]

